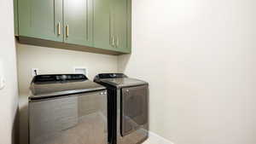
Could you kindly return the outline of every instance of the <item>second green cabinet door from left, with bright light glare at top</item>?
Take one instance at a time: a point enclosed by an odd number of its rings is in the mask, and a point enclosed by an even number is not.
[[[92,0],[63,0],[65,43],[91,46]]]

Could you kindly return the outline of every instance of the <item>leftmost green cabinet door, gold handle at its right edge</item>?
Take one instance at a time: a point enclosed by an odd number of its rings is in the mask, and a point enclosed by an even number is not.
[[[63,41],[62,0],[19,0],[19,35]]]

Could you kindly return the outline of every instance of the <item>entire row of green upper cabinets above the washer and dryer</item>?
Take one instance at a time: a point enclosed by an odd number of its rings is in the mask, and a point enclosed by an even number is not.
[[[38,44],[31,40],[38,38],[42,45],[49,40],[106,54],[131,53],[131,0],[14,1],[15,35],[20,42],[27,38]]]

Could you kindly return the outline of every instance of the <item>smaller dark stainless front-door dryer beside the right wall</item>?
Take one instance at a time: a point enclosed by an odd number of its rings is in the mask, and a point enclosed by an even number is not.
[[[139,144],[148,138],[148,83],[122,73],[98,74],[108,88],[108,142]]]

